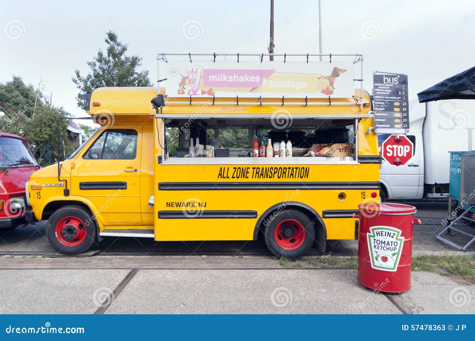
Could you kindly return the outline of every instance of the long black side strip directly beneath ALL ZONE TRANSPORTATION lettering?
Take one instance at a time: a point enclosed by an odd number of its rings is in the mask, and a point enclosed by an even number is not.
[[[378,181],[353,182],[160,182],[159,190],[380,189]]]

